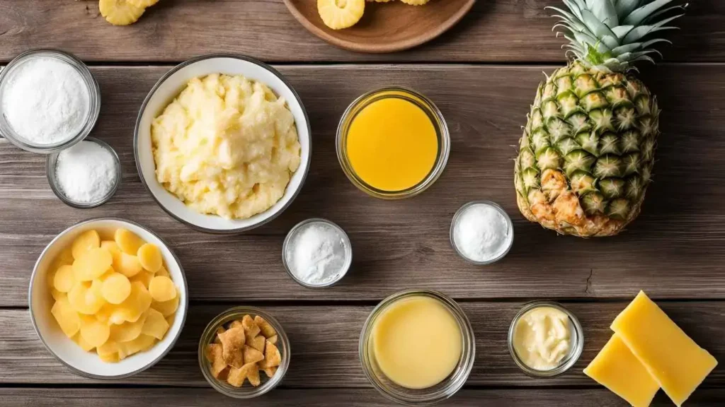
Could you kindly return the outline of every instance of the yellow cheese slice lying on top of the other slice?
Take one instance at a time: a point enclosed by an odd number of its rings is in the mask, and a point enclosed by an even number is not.
[[[718,364],[642,291],[614,319],[612,330],[677,406]]]

